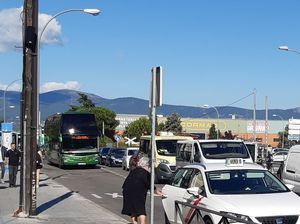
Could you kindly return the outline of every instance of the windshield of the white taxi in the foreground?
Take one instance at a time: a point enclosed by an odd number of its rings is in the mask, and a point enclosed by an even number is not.
[[[212,194],[264,194],[288,192],[267,170],[220,170],[206,172]]]

